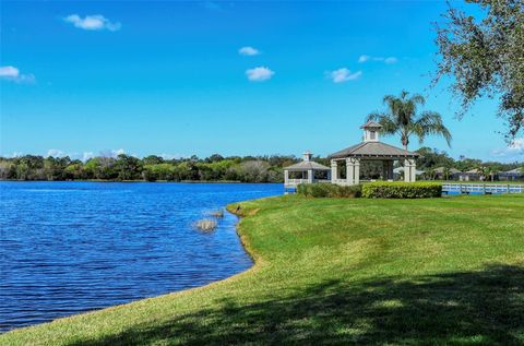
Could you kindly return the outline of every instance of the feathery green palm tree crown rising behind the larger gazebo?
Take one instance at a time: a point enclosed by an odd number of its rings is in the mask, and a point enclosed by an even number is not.
[[[377,121],[382,126],[381,132],[384,134],[400,134],[402,145],[407,152],[409,136],[416,135],[420,142],[424,142],[427,135],[437,134],[445,139],[451,146],[451,133],[442,122],[442,116],[436,111],[422,111],[418,114],[418,107],[424,106],[426,99],[403,91],[400,97],[386,95],[383,98],[388,107],[385,112],[372,112],[368,116],[368,121]]]

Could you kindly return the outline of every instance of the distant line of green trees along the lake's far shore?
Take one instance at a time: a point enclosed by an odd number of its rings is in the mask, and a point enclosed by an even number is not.
[[[524,164],[502,164],[461,157],[454,159],[445,152],[421,147],[417,151],[417,169],[431,171],[436,167],[489,169],[504,171],[523,167]],[[330,166],[325,157],[314,157],[315,162]],[[298,163],[300,158],[286,155],[229,156],[214,154],[206,158],[165,159],[150,155],[144,158],[120,154],[117,157],[97,156],[85,163],[70,157],[43,157],[25,155],[0,157],[1,180],[112,180],[112,181],[239,181],[239,182],[282,182],[283,167]],[[400,163],[402,165],[402,163]],[[361,167],[364,176],[380,176],[380,162],[366,163]]]

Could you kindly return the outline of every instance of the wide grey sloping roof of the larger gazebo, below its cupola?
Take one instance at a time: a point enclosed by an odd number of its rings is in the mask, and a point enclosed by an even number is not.
[[[368,121],[369,122],[369,121]],[[367,123],[365,124],[367,126]],[[354,146],[349,146],[340,152],[333,153],[329,158],[343,158],[343,157],[369,157],[369,158],[402,158],[402,157],[418,157],[420,156],[414,152],[406,152],[403,148],[385,144],[382,142],[362,142]]]

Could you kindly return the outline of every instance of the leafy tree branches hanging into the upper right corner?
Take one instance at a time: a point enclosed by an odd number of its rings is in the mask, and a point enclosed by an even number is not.
[[[476,20],[449,7],[437,26],[440,61],[433,83],[454,79],[451,90],[462,100],[462,117],[483,96],[499,99],[508,121],[507,139],[524,129],[524,1],[466,0],[484,11]]]

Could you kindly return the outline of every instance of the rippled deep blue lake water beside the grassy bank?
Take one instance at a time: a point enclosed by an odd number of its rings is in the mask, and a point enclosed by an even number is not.
[[[0,182],[0,331],[202,286],[249,269],[226,204],[282,184]]]

